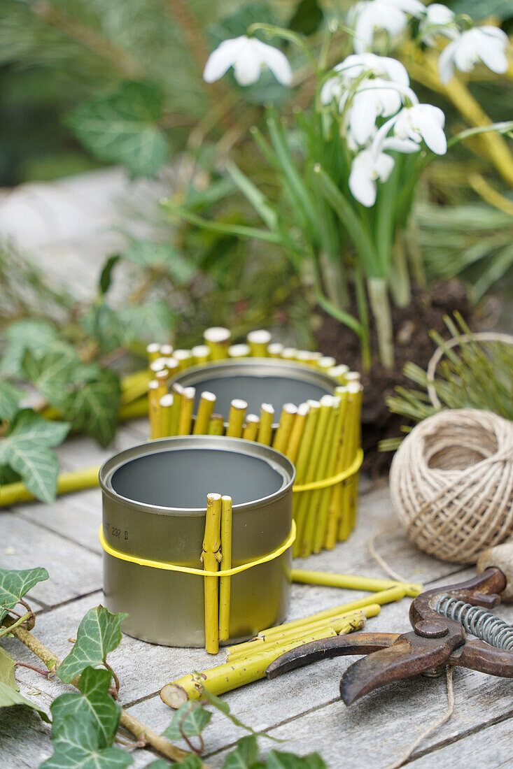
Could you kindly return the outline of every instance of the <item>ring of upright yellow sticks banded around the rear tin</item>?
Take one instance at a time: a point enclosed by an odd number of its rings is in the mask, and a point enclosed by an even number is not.
[[[204,344],[192,350],[170,345],[148,345],[150,437],[173,435],[226,435],[272,446],[296,466],[293,518],[297,538],[293,555],[306,557],[323,548],[334,548],[354,528],[357,508],[360,448],[360,375],[334,358],[319,352],[283,348],[273,343],[269,331],[251,331],[246,343],[230,345],[226,328],[207,328]],[[323,371],[339,384],[334,394],[319,401],[286,403],[281,414],[263,403],[260,414],[250,414],[248,404],[235,398],[229,414],[216,414],[215,394],[199,396],[196,390],[171,384],[191,365],[208,365],[226,358],[282,358]],[[276,426],[277,423],[277,426]]]

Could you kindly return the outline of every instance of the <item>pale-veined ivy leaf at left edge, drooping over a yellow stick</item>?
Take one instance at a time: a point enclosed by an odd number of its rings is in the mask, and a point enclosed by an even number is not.
[[[59,461],[49,447],[62,443],[69,428],[67,422],[50,421],[31,408],[18,411],[0,441],[0,466],[7,464],[18,473],[35,498],[51,502],[57,491]]]

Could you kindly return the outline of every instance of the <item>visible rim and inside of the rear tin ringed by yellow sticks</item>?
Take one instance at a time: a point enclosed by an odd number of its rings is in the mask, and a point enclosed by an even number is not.
[[[172,380],[196,388],[196,408],[205,390],[216,395],[216,411],[228,415],[233,398],[247,401],[248,411],[260,413],[262,403],[280,415],[284,403],[299,405],[334,394],[337,381],[295,361],[277,358],[240,358],[188,368]]]

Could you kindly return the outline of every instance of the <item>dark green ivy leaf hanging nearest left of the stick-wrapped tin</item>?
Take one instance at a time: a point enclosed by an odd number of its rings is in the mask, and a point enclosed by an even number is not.
[[[118,424],[119,378],[108,368],[94,366],[75,370],[74,378],[82,383],[63,402],[62,415],[75,430],[91,435],[101,446],[109,445]]]

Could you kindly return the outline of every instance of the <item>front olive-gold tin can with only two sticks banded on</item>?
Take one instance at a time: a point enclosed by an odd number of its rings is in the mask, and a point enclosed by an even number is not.
[[[203,568],[206,494],[233,498],[232,566],[280,548],[292,525],[293,464],[240,438],[187,435],[133,446],[103,464],[103,533],[123,554]],[[291,550],[231,577],[230,641],[283,621]],[[167,646],[205,643],[203,578],[103,554],[106,604],[123,631]]]

